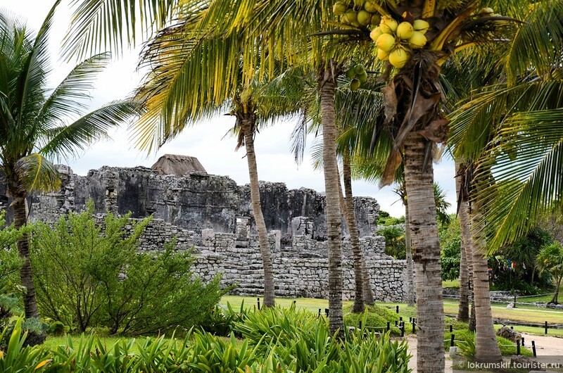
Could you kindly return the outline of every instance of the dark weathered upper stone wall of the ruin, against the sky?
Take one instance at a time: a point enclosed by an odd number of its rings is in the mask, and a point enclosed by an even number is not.
[[[96,213],[154,217],[194,232],[213,229],[234,233],[236,219],[252,217],[250,187],[239,186],[227,176],[191,172],[186,177],[157,175],[146,167],[101,167],[88,175],[75,175],[61,166],[60,191],[34,198],[32,217],[52,221],[62,213],[84,210],[94,201]],[[283,183],[260,182],[262,209],[268,230],[279,230],[284,241],[291,241],[291,220],[297,216],[312,219],[312,236],[326,239],[324,194],[312,189],[287,189]],[[379,205],[374,198],[355,197],[360,236],[375,234]],[[253,220],[251,232],[256,233]],[[344,225],[343,225],[344,226]],[[346,229],[344,230],[346,234]]]

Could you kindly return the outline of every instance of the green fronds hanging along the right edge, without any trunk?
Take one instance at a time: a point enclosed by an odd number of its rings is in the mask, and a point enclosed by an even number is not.
[[[526,234],[563,194],[557,165],[563,151],[563,2],[531,9],[521,13],[526,23],[507,49],[505,80],[481,91],[455,115],[460,129],[472,135],[479,131],[471,125],[477,115],[498,122],[483,161],[495,167],[495,184],[480,197],[495,232],[490,251]]]

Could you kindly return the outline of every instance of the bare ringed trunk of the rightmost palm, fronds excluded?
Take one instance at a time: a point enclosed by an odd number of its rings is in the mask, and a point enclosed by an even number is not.
[[[485,256],[486,236],[483,227],[481,203],[472,204],[471,227],[473,235],[473,292],[475,300],[475,359],[478,362],[500,362],[488,282],[488,265]]]

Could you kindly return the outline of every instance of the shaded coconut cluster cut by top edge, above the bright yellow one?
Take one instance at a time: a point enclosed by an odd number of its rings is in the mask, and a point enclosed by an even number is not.
[[[379,25],[381,16],[378,6],[369,0],[338,0],[332,7],[334,15],[341,16],[341,22],[354,27]]]

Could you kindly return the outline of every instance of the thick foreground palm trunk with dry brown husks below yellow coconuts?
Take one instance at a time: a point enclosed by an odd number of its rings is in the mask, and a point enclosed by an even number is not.
[[[424,46],[399,47],[407,60],[394,62],[398,66],[395,75],[384,88],[386,125],[393,128],[394,141],[382,184],[391,183],[394,170],[403,163],[417,282],[419,372],[444,369],[440,247],[431,165],[434,144],[443,142],[448,134],[448,120],[441,110],[441,65],[457,51],[502,35],[509,18],[482,12],[487,3],[425,0],[395,6],[385,1],[379,10],[382,16],[393,18],[386,18],[391,24],[419,19],[429,23]]]

